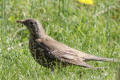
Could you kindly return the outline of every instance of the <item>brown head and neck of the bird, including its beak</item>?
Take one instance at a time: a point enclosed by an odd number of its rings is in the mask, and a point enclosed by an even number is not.
[[[29,30],[29,32],[33,35],[45,34],[42,25],[35,19],[18,20],[17,23],[21,23],[22,25],[25,25]]]

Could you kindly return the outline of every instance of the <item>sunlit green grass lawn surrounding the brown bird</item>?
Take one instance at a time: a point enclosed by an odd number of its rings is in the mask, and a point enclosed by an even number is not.
[[[120,58],[120,5],[95,0],[0,0],[0,80],[116,80],[117,63],[88,62],[101,70],[68,66],[51,74],[28,49],[29,32],[16,20],[38,19],[46,33],[66,45],[97,56]],[[95,16],[109,6],[115,8]],[[18,32],[16,32],[18,31]]]

